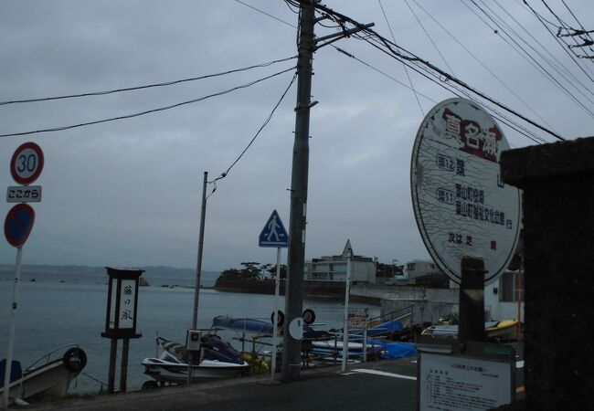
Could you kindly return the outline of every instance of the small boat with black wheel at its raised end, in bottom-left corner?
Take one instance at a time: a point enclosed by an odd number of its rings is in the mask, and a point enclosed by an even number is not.
[[[53,359],[52,359],[53,358]],[[87,354],[78,344],[67,344],[46,353],[22,371],[13,361],[8,385],[9,404],[26,405],[27,401],[46,397],[60,398],[87,364]],[[5,394],[6,360],[0,362],[0,396]]]

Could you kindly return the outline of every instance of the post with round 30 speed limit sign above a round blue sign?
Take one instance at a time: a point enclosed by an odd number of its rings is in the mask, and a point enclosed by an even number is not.
[[[18,184],[28,185],[37,180],[43,170],[43,151],[35,142],[21,144],[13,153],[10,161],[10,174]],[[10,374],[12,369],[13,350],[15,346],[16,309],[18,308],[18,286],[21,279],[21,260],[23,245],[27,242],[35,222],[35,211],[28,202],[41,201],[41,186],[8,187],[7,203],[18,203],[13,206],[5,217],[5,237],[8,243],[16,248],[15,281],[10,309],[10,323],[8,326],[8,352],[6,353],[5,387],[3,408],[8,408]]]

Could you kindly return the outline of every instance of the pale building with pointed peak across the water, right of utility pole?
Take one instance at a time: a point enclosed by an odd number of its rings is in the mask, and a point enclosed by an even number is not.
[[[311,281],[345,282],[346,259],[351,255],[351,283],[375,284],[376,262],[374,258],[356,256],[347,240],[343,253],[338,256],[312,258],[305,262],[304,279]]]

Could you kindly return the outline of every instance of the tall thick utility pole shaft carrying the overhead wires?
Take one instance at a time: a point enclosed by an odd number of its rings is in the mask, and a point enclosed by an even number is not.
[[[282,381],[297,380],[301,374],[301,340],[289,332],[289,324],[302,317],[303,266],[305,260],[305,224],[307,179],[309,170],[310,107],[312,96],[312,61],[315,47],[313,2],[302,1],[297,59],[297,106],[295,107],[295,142],[292,153],[291,216],[289,221],[288,275],[285,290],[285,331],[282,338]]]

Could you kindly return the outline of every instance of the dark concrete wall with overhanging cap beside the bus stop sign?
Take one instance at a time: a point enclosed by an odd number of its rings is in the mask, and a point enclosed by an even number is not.
[[[525,409],[592,409],[594,138],[502,153],[524,190]]]

